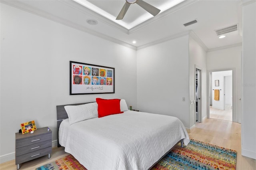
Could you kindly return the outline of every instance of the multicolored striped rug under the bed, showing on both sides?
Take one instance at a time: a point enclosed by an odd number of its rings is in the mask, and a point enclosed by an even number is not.
[[[184,148],[178,144],[151,170],[235,170],[236,151],[190,140]],[[86,170],[72,155],[65,156],[36,170]]]

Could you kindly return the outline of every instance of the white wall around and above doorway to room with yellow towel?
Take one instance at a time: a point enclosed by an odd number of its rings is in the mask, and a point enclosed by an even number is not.
[[[241,87],[241,55],[242,46],[230,47],[226,49],[219,49],[215,51],[209,51],[207,53],[207,86],[209,86],[209,72],[212,71],[224,71],[232,70],[232,81],[233,81],[233,111],[236,122],[241,123],[241,99],[242,98],[242,87]],[[212,78],[212,81],[214,79]],[[213,82],[214,83],[214,82]],[[209,87],[207,87],[208,90]],[[214,88],[214,86],[212,87]],[[207,93],[207,106],[209,105],[209,94]],[[213,101],[212,101],[213,102]],[[209,113],[209,106],[208,106]]]

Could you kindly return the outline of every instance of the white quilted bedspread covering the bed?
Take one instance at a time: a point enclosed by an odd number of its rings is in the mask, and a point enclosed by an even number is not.
[[[182,122],[166,115],[125,111],[69,125],[59,143],[88,170],[147,170],[179,140],[189,143]]]

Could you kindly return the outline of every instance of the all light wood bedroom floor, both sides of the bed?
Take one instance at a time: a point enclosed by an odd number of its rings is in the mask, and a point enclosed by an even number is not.
[[[236,170],[256,170],[256,160],[241,155],[241,125],[232,121],[206,119],[190,130],[190,138],[237,151]],[[53,148],[51,158],[47,156],[21,164],[20,170],[34,170],[68,155],[64,148]],[[16,170],[15,160],[0,164],[0,170]]]

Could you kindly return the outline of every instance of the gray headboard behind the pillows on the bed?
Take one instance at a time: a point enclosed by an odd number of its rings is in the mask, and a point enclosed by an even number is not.
[[[88,103],[92,103],[92,102],[88,102]],[[69,105],[83,105],[86,103],[77,103],[77,104],[69,104]],[[60,147],[59,144],[59,128],[60,128],[60,123],[64,120],[68,118],[68,114],[64,108],[64,106],[66,105],[59,105],[56,106],[57,109],[57,133],[58,133],[58,147]]]

